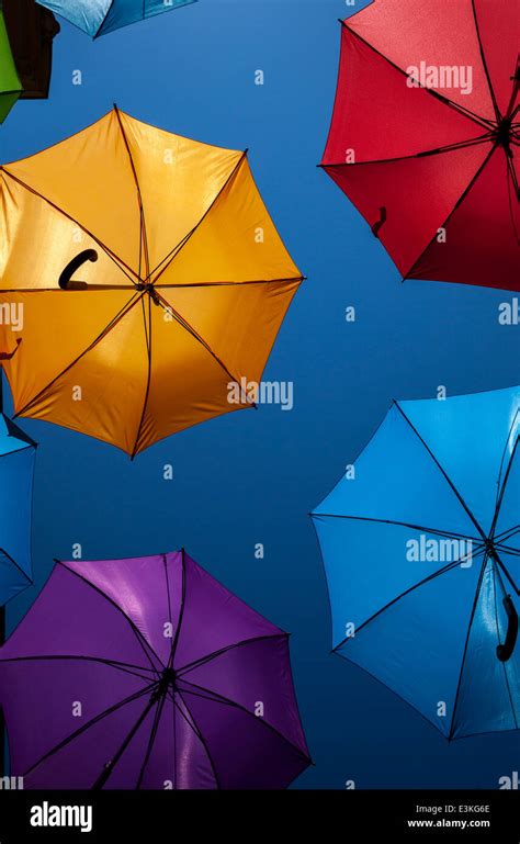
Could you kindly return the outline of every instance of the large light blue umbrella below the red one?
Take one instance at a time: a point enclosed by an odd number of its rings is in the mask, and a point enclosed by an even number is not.
[[[395,403],[313,513],[334,649],[449,739],[520,725],[520,387]]]

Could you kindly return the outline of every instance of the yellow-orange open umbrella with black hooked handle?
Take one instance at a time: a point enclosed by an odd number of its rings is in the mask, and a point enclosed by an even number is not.
[[[135,455],[253,406],[234,385],[260,382],[302,274],[246,153],[114,109],[0,168],[0,302],[24,314],[16,415]]]

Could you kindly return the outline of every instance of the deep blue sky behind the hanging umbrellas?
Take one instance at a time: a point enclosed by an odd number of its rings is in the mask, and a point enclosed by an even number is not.
[[[327,590],[307,514],[353,462],[393,397],[433,396],[439,384],[449,394],[511,385],[520,339],[520,326],[497,319],[510,293],[402,283],[361,216],[316,168],[336,89],[337,19],[362,5],[200,0],[94,43],[61,22],[50,99],[19,103],[0,128],[0,160],[8,161],[83,128],[116,102],[166,130],[249,147],[268,207],[308,277],[264,374],[294,381],[292,413],[263,406],[229,414],[134,463],[88,437],[22,420],[41,443],[36,585],[10,605],[9,622],[30,606],[53,558],[70,559],[76,542],[94,560],[184,545],[293,634],[294,678],[315,761],[295,787],[341,789],[353,779],[358,788],[495,788],[518,769],[517,733],[448,744],[375,679],[329,653]],[[75,69],[82,71],[81,87],[72,86]],[[255,85],[257,69],[265,74],[263,87]],[[344,319],[349,305],[357,310],[353,324]],[[172,482],[162,480],[165,463],[173,465]],[[257,542],[265,547],[260,561]]]

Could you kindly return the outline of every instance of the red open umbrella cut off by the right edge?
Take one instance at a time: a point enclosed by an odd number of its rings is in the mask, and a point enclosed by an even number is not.
[[[375,0],[341,25],[323,167],[404,279],[520,290],[515,0]]]

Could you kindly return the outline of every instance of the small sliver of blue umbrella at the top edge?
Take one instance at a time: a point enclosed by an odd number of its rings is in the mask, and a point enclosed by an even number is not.
[[[37,0],[93,38],[196,0]]]

